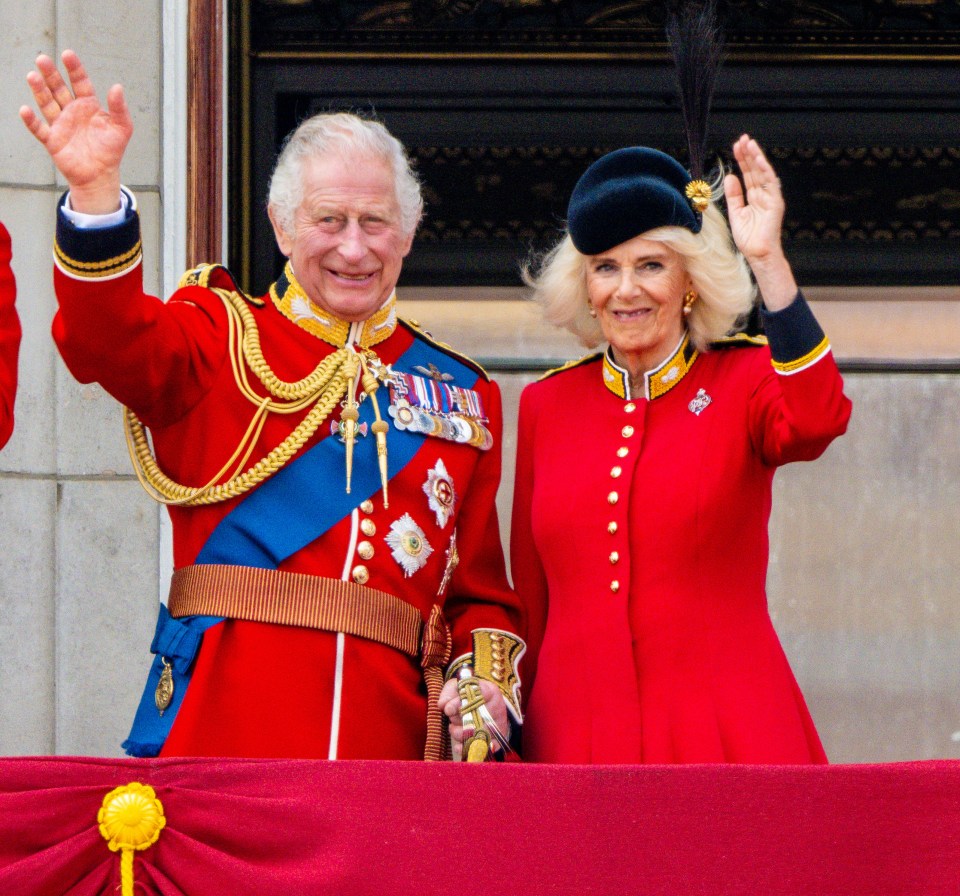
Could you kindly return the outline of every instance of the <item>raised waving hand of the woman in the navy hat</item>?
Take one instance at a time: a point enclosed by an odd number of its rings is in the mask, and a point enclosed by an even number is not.
[[[779,311],[797,294],[796,280],[783,254],[786,205],[780,180],[760,144],[748,134],[733,144],[733,155],[743,183],[735,174],[728,174],[723,181],[730,230],[753,271],[764,304],[771,311]]]

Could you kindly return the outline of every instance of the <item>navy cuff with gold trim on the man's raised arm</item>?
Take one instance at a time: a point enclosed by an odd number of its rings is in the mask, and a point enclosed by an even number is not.
[[[57,238],[54,258],[71,277],[94,280],[116,277],[140,263],[140,216],[133,203],[124,220],[110,227],[80,228],[64,214],[67,194],[57,206]]]

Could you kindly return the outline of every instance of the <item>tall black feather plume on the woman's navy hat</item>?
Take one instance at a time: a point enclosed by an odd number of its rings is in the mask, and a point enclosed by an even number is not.
[[[714,0],[684,0],[668,16],[666,30],[677,70],[690,174],[702,178],[710,103],[723,58],[723,33]]]

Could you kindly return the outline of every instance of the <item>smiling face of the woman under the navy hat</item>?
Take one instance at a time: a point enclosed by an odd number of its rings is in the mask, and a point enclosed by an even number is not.
[[[617,362],[639,376],[683,335],[683,297],[693,283],[683,257],[641,234],[587,256],[587,296]]]

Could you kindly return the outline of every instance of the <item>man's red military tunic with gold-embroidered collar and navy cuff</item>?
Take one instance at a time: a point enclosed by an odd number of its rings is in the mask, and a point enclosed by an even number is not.
[[[78,380],[101,383],[149,427],[167,475],[204,485],[241,441],[255,408],[237,388],[221,298],[204,286],[181,288],[166,303],[145,295],[138,236],[132,214],[107,233],[79,231],[61,215],[54,337]],[[95,262],[99,266],[93,268]],[[90,277],[90,270],[97,276]],[[232,281],[220,269],[211,285],[232,288]],[[262,306],[251,304],[250,311],[265,360],[288,382],[309,374],[347,340],[369,345],[384,364],[395,364],[414,344],[440,362],[446,352],[398,323],[392,299],[363,325],[321,320],[286,274]],[[519,624],[494,503],[500,480],[500,394],[479,368],[457,361],[458,369],[470,368],[476,383],[453,385],[473,388],[482,400],[493,449],[422,437],[412,460],[399,472],[391,470],[389,508],[379,491],[369,499],[359,495],[345,518],[279,564],[288,572],[368,584],[415,606],[424,618],[434,603],[443,604],[454,657],[471,650],[473,629],[517,631]],[[256,377],[250,381],[262,392]],[[389,419],[385,388],[378,398]],[[248,466],[281,443],[305,413],[268,415]],[[330,421],[338,416],[335,408],[302,452],[331,438]],[[387,436],[388,455],[393,432]],[[431,506],[425,490],[439,469],[453,490],[447,517],[436,511],[436,502]],[[342,465],[330,476],[329,489],[343,493]],[[241,500],[170,508],[176,568],[196,561]],[[298,496],[290,495],[289,501],[298,502]],[[430,550],[416,556],[401,551],[398,559],[399,549],[387,538],[405,516],[419,527]],[[460,562],[438,600],[454,532]],[[203,635],[163,755],[420,759],[426,712],[417,657],[336,632],[228,620]]]

